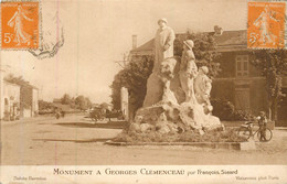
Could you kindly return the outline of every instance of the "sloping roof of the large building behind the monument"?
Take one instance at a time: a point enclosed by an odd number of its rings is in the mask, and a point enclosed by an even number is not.
[[[214,32],[206,32],[209,34],[214,34]],[[183,35],[185,33],[177,34],[176,36]],[[221,35],[214,35],[214,41],[216,43],[216,48],[219,51],[233,51],[233,50],[246,50],[247,48],[247,31],[224,31]],[[131,50],[134,52],[152,51],[155,39],[146,42],[144,45]]]

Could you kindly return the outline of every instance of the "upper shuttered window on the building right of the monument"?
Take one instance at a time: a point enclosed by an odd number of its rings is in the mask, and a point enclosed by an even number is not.
[[[249,74],[248,56],[237,55],[235,61],[236,61],[236,77],[247,77]]]

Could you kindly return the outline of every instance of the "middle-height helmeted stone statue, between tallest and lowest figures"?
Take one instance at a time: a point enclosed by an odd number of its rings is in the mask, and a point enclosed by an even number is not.
[[[192,40],[183,41],[183,53],[180,63],[179,78],[181,88],[185,94],[185,102],[194,102],[193,79],[198,75],[195,56],[192,51],[194,43]]]

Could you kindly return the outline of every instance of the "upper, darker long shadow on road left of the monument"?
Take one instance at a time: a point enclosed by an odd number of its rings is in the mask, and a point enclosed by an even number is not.
[[[71,128],[104,128],[104,129],[124,129],[128,126],[127,121],[110,121],[106,123],[86,123],[86,122],[59,122],[57,126]]]

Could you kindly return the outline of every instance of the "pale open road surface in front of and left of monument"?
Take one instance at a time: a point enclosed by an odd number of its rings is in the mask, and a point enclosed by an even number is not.
[[[94,123],[83,116],[2,122],[3,165],[287,164],[287,129],[256,151],[191,147],[111,147],[125,122]]]

